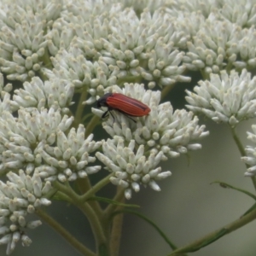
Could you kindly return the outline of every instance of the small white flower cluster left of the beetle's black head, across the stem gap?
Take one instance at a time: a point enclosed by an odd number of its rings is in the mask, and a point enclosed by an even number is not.
[[[74,85],[63,79],[50,79],[42,81],[38,77],[31,82],[24,82],[23,88],[15,90],[13,101],[10,102],[12,110],[22,108],[41,108],[55,106],[56,104],[65,113],[73,104]]]

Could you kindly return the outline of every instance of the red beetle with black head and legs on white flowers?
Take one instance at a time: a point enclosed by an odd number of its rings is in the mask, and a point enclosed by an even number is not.
[[[111,110],[119,111],[120,113],[124,113],[128,118],[129,116],[133,117],[141,117],[144,115],[148,115],[151,111],[147,105],[143,104],[143,102],[137,101],[134,98],[129,96],[125,96],[121,93],[106,93],[97,101],[97,108],[107,107],[108,110],[102,114],[102,119],[107,117],[108,112],[112,115]],[[114,117],[113,117],[114,119]],[[136,121],[133,120],[135,123]]]

